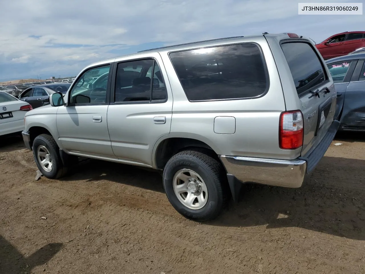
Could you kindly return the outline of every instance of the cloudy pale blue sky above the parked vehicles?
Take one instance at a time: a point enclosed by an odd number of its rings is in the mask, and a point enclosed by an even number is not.
[[[298,15],[293,0],[4,0],[1,11],[0,81],[75,76],[138,50],[264,31],[321,42],[365,22],[365,15]]]

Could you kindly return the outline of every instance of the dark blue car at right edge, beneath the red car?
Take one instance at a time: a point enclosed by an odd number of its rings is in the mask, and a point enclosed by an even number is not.
[[[365,131],[365,53],[326,60],[337,91],[338,130]]]

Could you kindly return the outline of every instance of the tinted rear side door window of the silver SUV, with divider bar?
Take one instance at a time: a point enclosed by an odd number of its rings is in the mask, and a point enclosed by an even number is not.
[[[166,99],[165,81],[155,60],[146,59],[118,64],[115,79],[116,103]]]

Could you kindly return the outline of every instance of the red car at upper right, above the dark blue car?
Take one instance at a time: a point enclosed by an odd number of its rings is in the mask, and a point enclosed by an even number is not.
[[[316,44],[316,47],[324,60],[343,56],[360,47],[365,47],[365,31],[338,33]]]

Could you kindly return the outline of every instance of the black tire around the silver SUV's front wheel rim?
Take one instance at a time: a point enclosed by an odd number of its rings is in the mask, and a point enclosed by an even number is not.
[[[52,162],[52,168],[50,171],[45,170],[41,163],[39,163],[38,160],[38,148],[39,146],[44,146],[50,156],[51,156],[51,162]],[[54,138],[48,134],[41,134],[35,137],[33,141],[33,155],[35,163],[37,164],[37,167],[39,171],[43,174],[43,176],[49,178],[49,179],[58,179],[64,176],[67,173],[67,167],[64,167],[62,164],[61,157],[59,156],[59,148],[57,143],[55,142]]]

